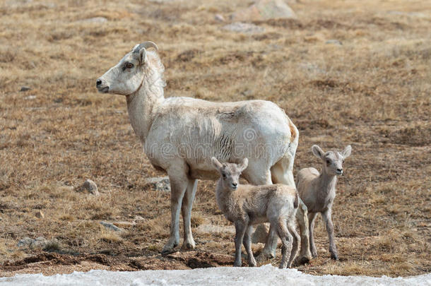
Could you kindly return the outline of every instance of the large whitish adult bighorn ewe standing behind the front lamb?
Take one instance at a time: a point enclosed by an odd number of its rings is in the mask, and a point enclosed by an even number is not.
[[[155,51],[148,50],[154,48]],[[163,253],[179,244],[179,211],[184,220],[184,249],[194,249],[191,205],[197,179],[218,179],[211,157],[229,162],[249,158],[242,174],[250,184],[295,186],[293,160],[299,133],[283,109],[273,102],[208,102],[163,96],[164,67],[153,42],[143,42],[97,80],[100,93],[125,95],[131,126],[151,164],[167,172],[171,185],[170,239]],[[300,257],[309,253],[307,208],[297,212],[302,233]],[[276,235],[268,235],[262,254],[274,256]]]

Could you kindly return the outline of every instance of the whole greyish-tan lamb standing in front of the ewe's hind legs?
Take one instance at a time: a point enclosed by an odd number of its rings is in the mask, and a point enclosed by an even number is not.
[[[297,254],[300,239],[294,225],[299,205],[296,189],[283,184],[240,185],[240,174],[247,168],[247,158],[240,165],[221,164],[215,157],[211,161],[220,172],[215,190],[218,207],[235,224],[234,266],[242,264],[242,244],[247,251],[249,266],[256,266],[251,246],[252,225],[270,222],[270,231],[278,234],[282,243],[280,268],[290,267]]]

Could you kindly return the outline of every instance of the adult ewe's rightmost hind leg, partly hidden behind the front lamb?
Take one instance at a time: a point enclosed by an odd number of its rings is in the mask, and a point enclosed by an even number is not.
[[[293,159],[290,157],[284,157],[276,165],[273,165],[271,174],[274,184],[285,184],[296,188],[295,181],[293,181]],[[297,263],[304,264],[312,258],[312,254],[309,252],[307,205],[301,199],[300,206],[296,212],[296,219],[301,233],[301,251],[297,258]]]

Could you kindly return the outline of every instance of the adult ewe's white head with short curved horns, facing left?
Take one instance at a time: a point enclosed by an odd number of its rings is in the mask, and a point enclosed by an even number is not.
[[[159,69],[160,73],[163,73],[160,58],[155,52],[147,52],[149,48],[158,50],[153,42],[136,44],[117,65],[98,78],[96,87],[99,93],[131,95],[141,88],[144,77],[152,76],[154,69]]]

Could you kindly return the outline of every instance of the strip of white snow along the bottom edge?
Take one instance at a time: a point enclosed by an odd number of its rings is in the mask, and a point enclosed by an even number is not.
[[[382,276],[315,276],[301,273],[296,269],[278,269],[271,265],[259,268],[201,268],[194,270],[145,270],[136,272],[113,272],[91,270],[44,276],[42,274],[23,274],[11,278],[0,278],[0,285],[90,285],[90,286],[257,286],[257,285],[431,285],[431,273],[409,278],[389,278]]]

